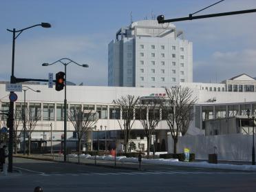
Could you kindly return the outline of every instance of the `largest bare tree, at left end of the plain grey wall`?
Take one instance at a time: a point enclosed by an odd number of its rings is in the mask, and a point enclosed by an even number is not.
[[[165,100],[164,113],[167,113],[167,125],[173,138],[173,153],[177,153],[178,136],[182,130],[186,134],[191,121],[191,107],[195,104],[196,98],[192,98],[192,90],[189,87],[165,88],[167,100]]]

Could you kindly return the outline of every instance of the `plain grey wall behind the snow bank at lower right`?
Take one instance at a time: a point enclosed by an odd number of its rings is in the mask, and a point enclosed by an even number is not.
[[[208,154],[217,147],[218,160],[251,161],[253,137],[242,134],[222,136],[184,136],[178,140],[178,153],[187,147],[195,153],[196,159],[208,160]],[[168,153],[173,153],[173,139],[168,136]]]

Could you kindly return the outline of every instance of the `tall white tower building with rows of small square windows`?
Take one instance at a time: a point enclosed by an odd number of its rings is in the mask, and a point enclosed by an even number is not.
[[[172,87],[193,81],[192,43],[175,25],[143,20],[120,28],[108,47],[108,85]]]

